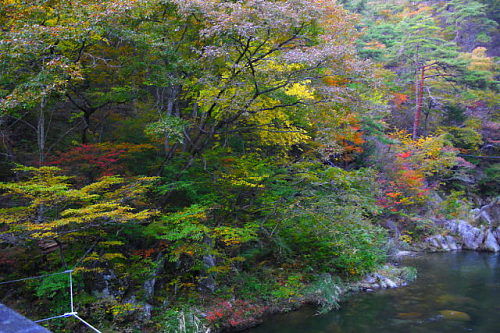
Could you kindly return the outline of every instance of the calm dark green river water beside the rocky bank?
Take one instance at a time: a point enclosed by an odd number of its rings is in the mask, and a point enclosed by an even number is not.
[[[408,257],[407,287],[360,293],[339,311],[305,308],[269,318],[247,333],[500,332],[500,255],[478,252]]]

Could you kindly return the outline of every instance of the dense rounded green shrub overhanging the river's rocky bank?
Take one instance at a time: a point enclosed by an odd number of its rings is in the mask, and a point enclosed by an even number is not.
[[[268,223],[279,236],[278,250],[312,270],[342,275],[363,274],[383,262],[386,234],[369,219],[379,211],[373,171],[326,168],[300,177],[301,191],[287,201],[279,221]]]

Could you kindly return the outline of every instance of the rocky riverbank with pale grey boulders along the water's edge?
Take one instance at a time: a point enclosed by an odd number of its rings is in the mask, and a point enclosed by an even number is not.
[[[223,316],[216,325],[215,330],[208,329],[207,332],[242,331],[258,325],[272,315],[297,310],[305,305],[313,304],[319,309],[327,306],[331,310],[339,306],[338,302],[350,297],[350,294],[358,292],[374,292],[379,289],[391,289],[406,286],[416,278],[416,269],[412,267],[399,267],[398,261],[401,257],[419,255],[422,252],[475,250],[475,251],[500,251],[500,200],[496,199],[488,205],[471,210],[468,218],[464,219],[432,219],[439,234],[425,238],[422,242],[414,245],[412,251],[401,249],[392,254],[391,263],[388,263],[376,272],[367,274],[359,281],[340,282],[333,279],[330,274],[322,275],[322,283],[310,285],[305,288],[301,295],[296,295],[280,302],[239,304],[238,301],[225,301],[219,304],[218,310]],[[396,237],[397,238],[397,237]],[[242,309],[253,309],[242,311]],[[222,309],[222,310],[221,310]],[[200,317],[213,316],[217,311],[200,311]],[[233,313],[245,312],[250,316],[243,316],[241,320],[232,320]],[[451,310],[443,310],[439,318],[460,318],[467,314]],[[437,318],[437,317],[436,317]],[[459,319],[457,319],[459,318]],[[227,319],[227,320],[226,320]]]

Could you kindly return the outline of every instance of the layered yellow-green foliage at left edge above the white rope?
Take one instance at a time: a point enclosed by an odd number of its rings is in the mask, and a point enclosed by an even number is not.
[[[0,190],[18,203],[0,209],[4,233],[21,237],[48,238],[109,224],[140,222],[154,216],[141,209],[140,197],[155,178],[124,179],[111,176],[75,188],[70,177],[56,167],[15,169],[21,180],[1,183]]]

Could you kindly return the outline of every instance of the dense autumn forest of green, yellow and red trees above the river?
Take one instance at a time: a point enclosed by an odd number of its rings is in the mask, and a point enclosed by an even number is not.
[[[498,196],[499,23],[494,0],[0,0],[0,282],[46,275],[0,302],[68,312],[72,270],[103,332],[336,309]]]

